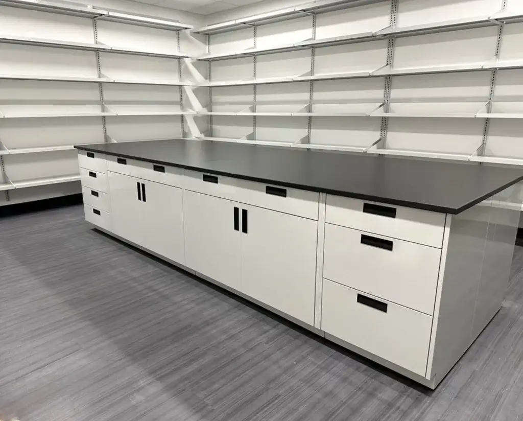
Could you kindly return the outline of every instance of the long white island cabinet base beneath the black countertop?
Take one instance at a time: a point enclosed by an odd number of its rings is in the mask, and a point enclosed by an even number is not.
[[[88,222],[430,388],[501,307],[519,185],[446,214],[78,154]]]

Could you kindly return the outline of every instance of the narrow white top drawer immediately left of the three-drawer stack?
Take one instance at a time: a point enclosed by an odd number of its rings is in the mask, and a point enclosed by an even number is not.
[[[318,219],[319,193],[247,180],[238,180],[238,187],[242,203],[316,221]]]

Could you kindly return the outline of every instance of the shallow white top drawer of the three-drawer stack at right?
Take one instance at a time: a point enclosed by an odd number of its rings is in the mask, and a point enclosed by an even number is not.
[[[327,195],[326,222],[442,247],[445,213]]]

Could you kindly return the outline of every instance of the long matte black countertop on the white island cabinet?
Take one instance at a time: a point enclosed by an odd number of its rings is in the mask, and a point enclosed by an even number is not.
[[[75,146],[283,187],[460,213],[523,179],[523,169],[238,143],[161,140]]]

